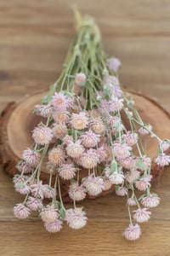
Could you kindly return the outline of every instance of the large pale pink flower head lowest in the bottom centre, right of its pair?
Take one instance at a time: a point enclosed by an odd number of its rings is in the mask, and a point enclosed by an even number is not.
[[[65,220],[71,229],[79,230],[87,224],[88,218],[81,207],[76,207],[75,209],[66,210]]]

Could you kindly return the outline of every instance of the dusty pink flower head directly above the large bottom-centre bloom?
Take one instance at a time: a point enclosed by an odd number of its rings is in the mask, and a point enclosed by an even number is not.
[[[82,185],[79,185],[77,182],[72,183],[69,188],[69,196],[74,201],[82,201],[86,198],[86,189]]]

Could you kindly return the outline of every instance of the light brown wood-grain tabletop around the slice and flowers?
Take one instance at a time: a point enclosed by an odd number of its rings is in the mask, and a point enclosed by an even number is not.
[[[94,15],[105,50],[122,60],[122,84],[157,98],[170,111],[169,0],[0,0],[0,110],[47,89],[59,75],[74,34],[71,8]],[[160,125],[161,120],[160,120]],[[154,191],[161,196],[139,241],[128,242],[124,199],[108,195],[84,203],[88,225],[50,235],[38,218],[13,216],[20,195],[0,172],[0,255],[170,255],[170,169]]]

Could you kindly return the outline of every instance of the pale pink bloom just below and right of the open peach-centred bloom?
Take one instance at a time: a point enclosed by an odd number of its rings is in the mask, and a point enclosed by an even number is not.
[[[94,148],[99,143],[99,135],[95,134],[94,131],[85,131],[81,136],[82,145],[86,148]]]

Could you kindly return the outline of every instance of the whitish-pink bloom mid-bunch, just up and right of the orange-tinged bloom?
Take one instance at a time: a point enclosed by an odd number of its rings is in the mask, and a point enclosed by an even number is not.
[[[72,158],[81,157],[84,150],[80,140],[77,140],[76,143],[69,143],[66,147],[67,154]]]

